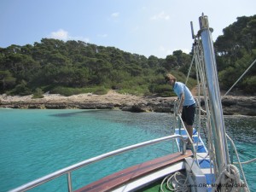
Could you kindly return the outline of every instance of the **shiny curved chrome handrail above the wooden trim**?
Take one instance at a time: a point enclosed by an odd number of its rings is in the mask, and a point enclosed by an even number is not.
[[[166,140],[171,140],[171,139],[176,139],[176,138],[179,138],[179,139],[182,140],[182,142],[183,142],[183,152],[182,152],[182,154],[185,154],[186,153],[186,142],[185,142],[185,139],[182,136],[172,135],[172,136],[167,136],[167,137],[160,137],[160,138],[157,138],[157,139],[149,140],[147,142],[137,143],[137,144],[125,147],[125,148],[119,148],[117,150],[113,150],[113,151],[108,152],[106,154],[101,154],[101,155],[98,155],[96,157],[90,158],[89,160],[81,161],[77,164],[74,164],[73,166],[67,166],[66,168],[63,168],[59,171],[52,172],[49,175],[46,175],[44,177],[40,177],[40,178],[38,178],[38,179],[36,179],[32,182],[23,184],[18,188],[11,189],[11,190],[9,190],[9,192],[20,192],[20,191],[26,191],[28,189],[33,189],[33,188],[37,187],[38,185],[41,185],[43,183],[47,183],[50,180],[53,180],[56,177],[61,177],[62,175],[65,175],[65,174],[67,174],[68,191],[72,192],[73,190],[72,190],[72,184],[71,184],[72,183],[71,172],[73,172],[73,171],[75,171],[79,168],[82,168],[84,166],[87,166],[91,163],[95,163],[96,161],[104,160],[104,159],[106,159],[108,157],[111,157],[113,155],[116,155],[116,154],[122,154],[126,151],[130,151],[130,150],[135,149],[135,148],[142,148],[142,147],[154,144],[154,143],[160,143],[160,142],[163,142],[163,141],[166,141]]]

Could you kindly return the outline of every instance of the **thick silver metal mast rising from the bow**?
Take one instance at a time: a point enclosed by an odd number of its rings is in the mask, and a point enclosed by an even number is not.
[[[225,134],[224,115],[218,85],[218,73],[212,42],[212,29],[209,28],[208,17],[202,15],[199,18],[201,42],[204,52],[205,68],[209,94],[209,106],[211,109],[212,134],[218,166],[218,173],[230,164],[227,138]]]

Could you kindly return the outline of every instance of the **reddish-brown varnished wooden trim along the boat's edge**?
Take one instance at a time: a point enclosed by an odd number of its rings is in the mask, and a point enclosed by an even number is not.
[[[90,183],[84,186],[81,189],[76,190],[75,192],[103,192],[103,191],[110,191],[118,186],[124,185],[125,183],[129,183],[132,180],[137,179],[138,177],[143,177],[150,172],[154,172],[166,166],[170,166],[173,163],[178,161],[184,160],[185,158],[192,155],[191,150],[187,150],[186,154],[169,154],[158,159],[149,160],[147,162],[143,162],[136,166],[131,166],[122,170],[120,172],[115,172],[112,175],[107,177],[103,177],[102,179]]]

